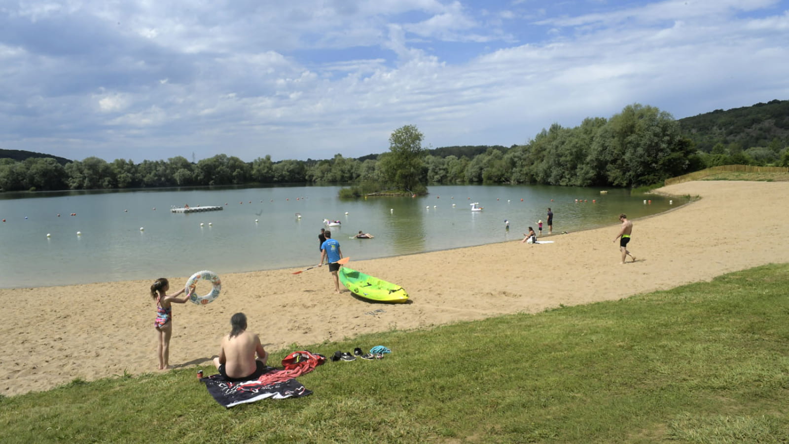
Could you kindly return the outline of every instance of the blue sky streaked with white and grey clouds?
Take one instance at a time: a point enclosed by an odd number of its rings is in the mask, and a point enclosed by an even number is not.
[[[789,0],[0,0],[0,148],[247,162],[789,100]]]

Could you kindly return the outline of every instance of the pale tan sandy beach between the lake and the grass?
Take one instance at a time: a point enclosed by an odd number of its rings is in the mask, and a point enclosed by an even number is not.
[[[618,223],[567,235],[555,243],[520,241],[395,258],[353,261],[353,269],[401,284],[410,304],[366,303],[333,293],[326,268],[300,275],[282,269],[222,276],[214,303],[174,305],[170,364],[205,364],[218,352],[230,315],[243,311],[270,351],[290,344],[342,340],[387,329],[499,314],[536,313],[559,304],[620,299],[710,280],[770,262],[789,262],[789,182],[686,182],[658,190],[701,196],[678,209],[633,220],[619,264]],[[554,232],[561,232],[561,215]],[[547,232],[547,227],[546,227]],[[199,265],[197,266],[199,268]],[[0,394],[49,389],[74,378],[156,371],[155,278],[49,288],[0,289]],[[188,277],[166,276],[181,287]],[[372,310],[385,311],[368,314]],[[282,356],[272,356],[279,364]]]

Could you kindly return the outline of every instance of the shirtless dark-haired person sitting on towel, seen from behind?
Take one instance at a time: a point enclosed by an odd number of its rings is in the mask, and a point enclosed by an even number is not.
[[[246,315],[236,313],[230,318],[230,333],[222,339],[214,366],[225,378],[235,381],[257,379],[266,372],[268,352],[260,337],[246,331]],[[257,354],[257,358],[255,355]]]

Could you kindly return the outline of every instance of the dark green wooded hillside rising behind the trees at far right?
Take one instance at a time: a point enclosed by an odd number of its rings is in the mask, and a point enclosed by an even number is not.
[[[738,144],[743,150],[789,145],[789,100],[771,100],[750,107],[715,110],[679,119],[682,134],[696,142],[697,149],[712,151],[717,143]]]

